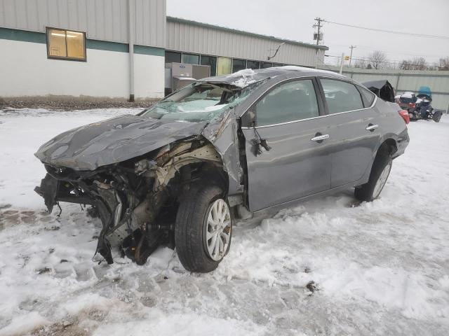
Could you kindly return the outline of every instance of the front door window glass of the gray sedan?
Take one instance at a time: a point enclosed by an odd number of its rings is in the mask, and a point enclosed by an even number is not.
[[[257,126],[288,123],[319,116],[314,84],[295,80],[272,89],[255,105]]]

